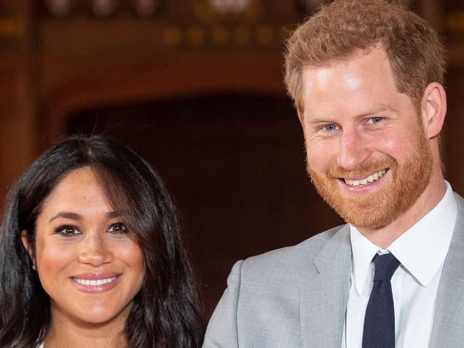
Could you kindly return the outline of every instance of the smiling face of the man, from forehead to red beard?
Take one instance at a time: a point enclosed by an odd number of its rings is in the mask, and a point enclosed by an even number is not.
[[[380,228],[405,213],[427,187],[433,160],[383,49],[305,68],[303,93],[307,168],[320,195],[357,227]]]

